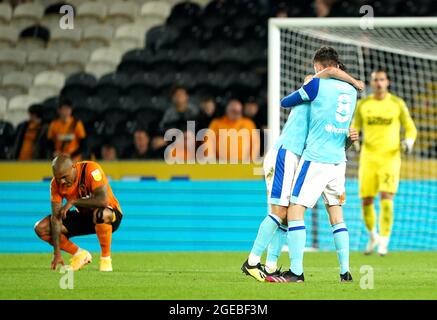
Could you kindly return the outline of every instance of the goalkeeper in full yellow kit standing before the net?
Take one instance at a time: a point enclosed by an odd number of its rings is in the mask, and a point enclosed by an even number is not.
[[[417,130],[405,102],[388,91],[390,81],[385,71],[373,72],[370,84],[373,94],[358,102],[352,127],[363,132],[358,178],[369,232],[365,254],[378,247],[383,256],[388,252],[393,225],[393,197],[399,185],[401,151],[412,151]],[[405,129],[402,141],[401,125]],[[374,205],[378,193],[381,193],[379,234]]]

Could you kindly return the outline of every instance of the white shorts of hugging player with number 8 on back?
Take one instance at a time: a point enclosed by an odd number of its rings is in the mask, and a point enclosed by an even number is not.
[[[329,206],[346,203],[346,162],[317,163],[301,159],[291,192],[291,203],[313,208],[320,196]]]

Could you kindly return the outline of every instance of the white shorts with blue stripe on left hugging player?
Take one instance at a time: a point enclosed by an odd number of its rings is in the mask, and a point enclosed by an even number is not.
[[[264,177],[267,186],[267,202],[269,204],[288,207],[294,173],[300,157],[283,149],[270,149],[264,157]]]

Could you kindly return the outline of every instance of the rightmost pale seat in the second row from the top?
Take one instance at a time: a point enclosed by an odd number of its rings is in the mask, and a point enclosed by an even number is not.
[[[152,25],[148,29],[151,27]],[[141,24],[122,25],[115,31],[115,39],[112,40],[112,43],[125,52],[134,48],[141,48],[144,46],[144,34],[148,29]]]

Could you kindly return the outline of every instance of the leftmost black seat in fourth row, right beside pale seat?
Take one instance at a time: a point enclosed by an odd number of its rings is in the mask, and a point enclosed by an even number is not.
[[[73,74],[65,81],[61,96],[69,98],[73,102],[82,102],[93,93],[97,79],[84,72]]]

